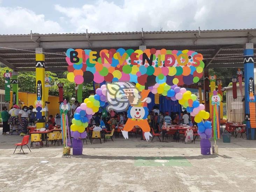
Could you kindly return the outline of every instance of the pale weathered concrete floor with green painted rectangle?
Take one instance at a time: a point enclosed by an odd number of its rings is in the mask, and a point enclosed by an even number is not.
[[[13,154],[21,140],[0,135],[0,191],[236,192],[256,187],[256,141],[242,138],[219,140],[219,155],[207,156],[200,154],[199,140],[184,144],[135,137],[92,145],[87,140],[80,156],[62,156],[62,147],[51,145]]]

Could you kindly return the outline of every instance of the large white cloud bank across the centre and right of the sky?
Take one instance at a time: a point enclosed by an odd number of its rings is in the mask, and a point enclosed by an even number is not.
[[[256,2],[243,4],[255,7]],[[125,0],[122,6],[104,0],[83,7],[55,9],[66,17],[72,32],[114,32],[255,28],[253,11],[241,8],[240,0]]]

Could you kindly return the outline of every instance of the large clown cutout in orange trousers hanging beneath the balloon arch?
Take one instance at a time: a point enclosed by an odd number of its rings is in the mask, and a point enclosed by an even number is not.
[[[138,104],[131,104],[131,106],[128,108],[128,120],[122,130],[122,134],[125,139],[128,138],[128,132],[133,129],[134,126],[139,126],[142,129],[144,132],[144,137],[147,141],[149,140],[150,136],[152,137],[147,121],[148,108],[143,106],[144,102],[149,103],[151,101],[151,99],[147,97],[149,91],[150,90],[142,90],[141,98],[138,100]]]

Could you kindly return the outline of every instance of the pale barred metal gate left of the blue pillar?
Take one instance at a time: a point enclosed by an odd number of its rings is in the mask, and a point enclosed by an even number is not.
[[[228,121],[243,122],[244,121],[244,96],[229,96],[229,113]]]

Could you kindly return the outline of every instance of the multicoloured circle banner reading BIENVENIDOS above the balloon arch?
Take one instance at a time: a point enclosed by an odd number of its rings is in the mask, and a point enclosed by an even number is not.
[[[148,86],[190,85],[199,81],[205,67],[202,55],[190,50],[119,48],[97,53],[87,49],[67,49],[66,56],[67,79],[76,84],[130,81],[140,86],[145,83]]]

